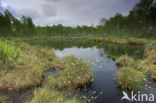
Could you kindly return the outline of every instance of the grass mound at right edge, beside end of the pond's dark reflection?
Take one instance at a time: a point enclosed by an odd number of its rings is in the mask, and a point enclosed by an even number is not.
[[[149,46],[145,49],[144,56],[152,63],[156,64],[156,45]]]

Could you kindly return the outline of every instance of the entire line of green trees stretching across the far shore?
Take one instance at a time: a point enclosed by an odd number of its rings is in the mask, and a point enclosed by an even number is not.
[[[8,10],[0,13],[0,36],[86,36],[86,35],[137,35],[155,36],[156,0],[140,0],[127,16],[117,13],[102,18],[96,26],[35,26],[32,18],[15,18]]]

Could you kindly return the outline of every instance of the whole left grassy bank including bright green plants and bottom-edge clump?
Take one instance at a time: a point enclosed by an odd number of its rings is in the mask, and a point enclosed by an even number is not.
[[[59,68],[61,71],[57,76],[46,80],[45,85],[48,85],[48,88],[35,89],[28,103],[78,103],[75,98],[66,99],[61,91],[57,90],[88,85],[92,79],[92,71],[86,62],[74,56],[59,58],[51,48],[15,41],[6,40],[0,44],[0,92],[20,92],[39,86],[43,83],[46,71]],[[10,64],[16,65],[10,68]],[[56,86],[59,87],[54,88]],[[10,103],[6,98],[0,95],[0,102]]]

